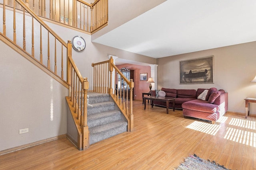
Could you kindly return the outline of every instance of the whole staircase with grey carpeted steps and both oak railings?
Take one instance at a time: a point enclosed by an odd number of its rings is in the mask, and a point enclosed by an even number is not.
[[[74,145],[85,150],[90,144],[133,131],[132,100],[128,101],[122,98],[124,94],[113,91],[114,84],[118,82],[117,76],[113,75],[119,74],[120,80],[130,87],[130,96],[134,82],[123,76],[113,58],[92,63],[93,87],[89,88],[88,78],[82,77],[72,59],[71,42],[62,40],[22,0],[14,0],[14,8],[6,6],[5,2],[1,11],[3,24],[0,26],[3,29],[0,30],[0,39],[68,89],[67,137]],[[19,28],[17,34],[16,25]],[[23,25],[23,29],[19,25]],[[26,28],[30,28],[31,33]],[[91,30],[96,31],[97,28]],[[88,93],[88,90],[94,93]]]

